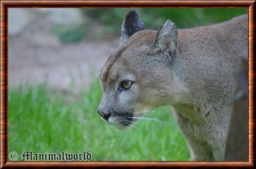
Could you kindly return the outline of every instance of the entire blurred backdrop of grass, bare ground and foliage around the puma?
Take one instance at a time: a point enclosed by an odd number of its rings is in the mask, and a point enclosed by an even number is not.
[[[8,151],[80,153],[92,160],[188,160],[170,107],[120,131],[97,114],[100,69],[119,42],[130,9],[8,9]],[[178,29],[247,13],[242,8],[136,9],[147,29]]]

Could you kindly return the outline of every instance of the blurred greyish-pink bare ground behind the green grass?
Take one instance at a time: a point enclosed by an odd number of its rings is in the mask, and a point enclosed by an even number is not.
[[[63,45],[56,35],[50,33],[58,24],[54,17],[61,18],[36,9],[9,11],[10,86],[24,82],[42,83],[47,77],[48,84],[56,89],[68,89],[73,83],[88,87],[90,75],[99,76],[100,69],[118,43],[118,37],[108,41],[87,38]],[[21,19],[24,21],[19,23]]]

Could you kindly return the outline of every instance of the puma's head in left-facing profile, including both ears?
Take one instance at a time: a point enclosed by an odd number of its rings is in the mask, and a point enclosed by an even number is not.
[[[146,111],[172,102],[172,71],[178,33],[167,20],[145,30],[138,13],[128,12],[120,43],[101,70],[103,95],[98,113],[117,127],[134,123]]]

